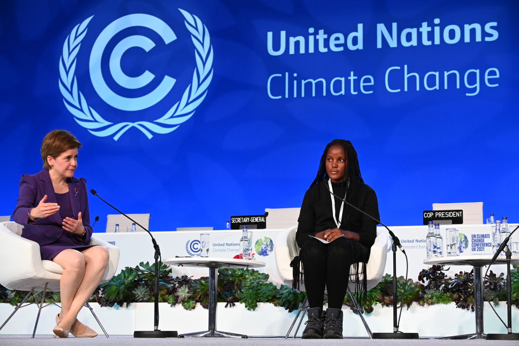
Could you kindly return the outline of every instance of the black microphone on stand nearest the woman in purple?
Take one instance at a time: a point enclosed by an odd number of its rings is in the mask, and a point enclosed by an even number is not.
[[[118,211],[121,215],[124,215],[128,219],[132,220],[132,222],[134,222],[136,225],[140,226],[142,229],[144,229],[146,232],[148,232],[150,237],[152,237],[153,248],[155,249],[155,256],[154,256],[155,257],[155,280],[154,280],[154,300],[155,300],[155,309],[154,309],[155,321],[154,322],[155,322],[155,324],[154,324],[154,330],[152,330],[152,331],[135,330],[133,332],[133,337],[134,338],[177,338],[179,336],[179,333],[177,333],[176,330],[160,330],[160,329],[158,329],[158,327],[159,327],[159,274],[158,273],[159,272],[158,272],[158,262],[157,261],[158,261],[158,258],[160,257],[160,248],[159,248],[159,245],[157,244],[157,242],[155,241],[155,238],[153,238],[153,235],[150,231],[148,231],[146,228],[142,227],[142,225],[140,225],[134,219],[132,219],[131,217],[129,217],[128,215],[126,215],[125,213],[123,213],[119,209],[117,209],[115,206],[113,206],[112,204],[110,204],[110,203],[106,202],[104,199],[102,199],[101,196],[99,196],[97,194],[97,192],[95,192],[94,189],[91,189],[90,192],[92,193],[92,195],[98,197],[100,200],[102,200],[106,204],[110,205],[113,209]]]

